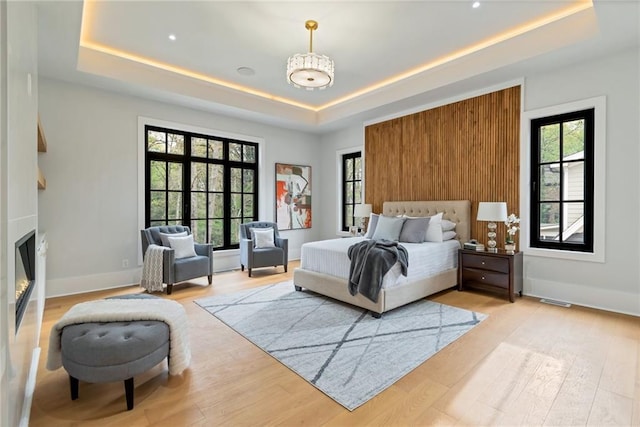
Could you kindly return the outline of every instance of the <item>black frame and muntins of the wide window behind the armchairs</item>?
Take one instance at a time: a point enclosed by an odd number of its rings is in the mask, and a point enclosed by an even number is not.
[[[248,220],[256,221],[258,220],[258,195],[259,195],[259,144],[257,142],[251,141],[242,141],[233,138],[221,137],[216,135],[207,135],[197,132],[179,130],[179,129],[171,129],[162,126],[154,126],[154,125],[145,125],[145,227],[151,226],[151,222],[153,221],[153,225],[159,225],[159,222],[162,222],[163,219],[153,219],[151,218],[151,192],[152,191],[161,191],[161,190],[152,190],[151,189],[151,164],[153,161],[161,161],[161,162],[171,162],[178,163],[182,165],[182,183],[183,188],[180,192],[182,194],[182,218],[169,218],[169,204],[166,203],[165,206],[165,224],[176,224],[180,223],[181,225],[185,225],[188,227],[192,227],[192,220],[204,220],[205,221],[205,236],[206,242],[211,240],[210,236],[210,227],[209,221],[213,221],[216,218],[210,218],[207,214],[207,218],[192,218],[191,212],[191,193],[192,189],[190,188],[190,179],[191,179],[191,164],[192,162],[205,163],[207,165],[222,165],[224,168],[224,178],[223,178],[223,243],[221,246],[214,246],[213,250],[227,250],[227,249],[237,249],[240,247],[239,245],[239,237],[235,236],[235,240],[237,242],[232,243],[232,219],[237,220],[240,219],[240,223],[246,222]],[[184,153],[183,154],[175,154],[168,152],[156,152],[149,151],[149,132],[162,132],[167,134],[175,134],[181,135],[184,137]],[[209,157],[200,157],[192,155],[191,152],[191,140],[192,138],[204,138],[207,140],[215,140],[220,141],[223,144],[223,159],[218,158],[209,158]],[[242,148],[242,156],[244,156],[244,146],[253,147],[255,154],[255,161],[245,162],[243,159],[240,161],[231,160],[229,156],[229,145],[230,144],[241,144]],[[232,203],[231,198],[232,194],[238,194],[237,191],[232,191],[231,187],[231,170],[234,168],[240,168],[242,170],[252,170],[253,171],[253,192],[245,192],[244,189],[240,190],[240,194],[250,194],[253,196],[253,212],[244,212],[244,200],[242,201],[242,216],[240,218],[233,216],[231,212]],[[209,167],[207,166],[207,174],[209,173]],[[168,186],[168,174],[165,178],[167,183],[165,184],[165,191],[169,193]],[[242,174],[242,179],[244,179],[244,173]],[[205,191],[207,194],[205,195],[206,205],[209,203],[209,194],[215,193],[215,191],[209,190],[209,179],[207,175],[206,179],[207,190]],[[197,192],[194,190],[194,192]],[[218,192],[219,193],[219,192]],[[168,198],[168,195],[167,195]],[[167,199],[168,200],[168,199]],[[206,208],[205,208],[206,209]],[[237,233],[236,233],[237,234]],[[205,242],[198,242],[205,243]]]

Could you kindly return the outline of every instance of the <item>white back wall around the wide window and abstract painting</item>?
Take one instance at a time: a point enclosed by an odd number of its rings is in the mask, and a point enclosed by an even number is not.
[[[317,135],[46,78],[39,97],[48,141],[40,156],[47,189],[39,199],[40,228],[49,242],[47,296],[139,283],[139,116],[264,139],[260,189],[267,202],[261,219],[274,218],[276,162],[311,165],[313,209],[322,204],[322,194],[315,192],[326,178]],[[322,216],[314,215],[311,229],[282,232],[289,238],[290,259],[299,257],[302,243],[317,240],[321,228]],[[216,253],[214,268],[228,268],[224,258]],[[130,268],[122,268],[124,259]],[[239,261],[232,265],[239,267]]]

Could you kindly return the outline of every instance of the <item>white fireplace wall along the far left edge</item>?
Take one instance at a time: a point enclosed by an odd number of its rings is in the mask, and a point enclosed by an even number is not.
[[[3,32],[0,49],[5,107],[1,120],[3,158],[0,174],[0,424],[14,426],[28,419],[31,391],[27,384],[29,379],[35,381],[39,354],[38,316],[33,301],[27,306],[20,329],[15,329],[15,242],[37,229],[38,224],[37,15],[31,2],[3,2],[1,8],[0,27],[6,32]]]

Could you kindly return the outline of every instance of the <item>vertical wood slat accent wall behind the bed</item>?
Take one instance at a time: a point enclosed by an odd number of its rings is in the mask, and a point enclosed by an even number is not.
[[[520,216],[520,87],[492,92],[365,128],[366,203],[385,200],[507,202]],[[486,244],[487,223],[471,236]],[[498,246],[505,238],[498,225]]]

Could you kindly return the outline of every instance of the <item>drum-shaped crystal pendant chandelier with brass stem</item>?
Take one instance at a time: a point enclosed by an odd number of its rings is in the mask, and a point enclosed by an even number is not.
[[[328,56],[313,53],[313,31],[318,29],[318,23],[309,20],[304,27],[309,30],[309,53],[298,53],[289,58],[287,81],[297,88],[326,89],[333,86],[333,61]]]

